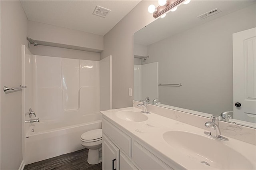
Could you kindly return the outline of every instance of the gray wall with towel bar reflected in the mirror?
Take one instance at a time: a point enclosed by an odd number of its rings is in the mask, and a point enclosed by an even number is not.
[[[255,6],[207,22],[148,45],[159,61],[159,101],[210,114],[233,110],[232,34],[256,26]]]

